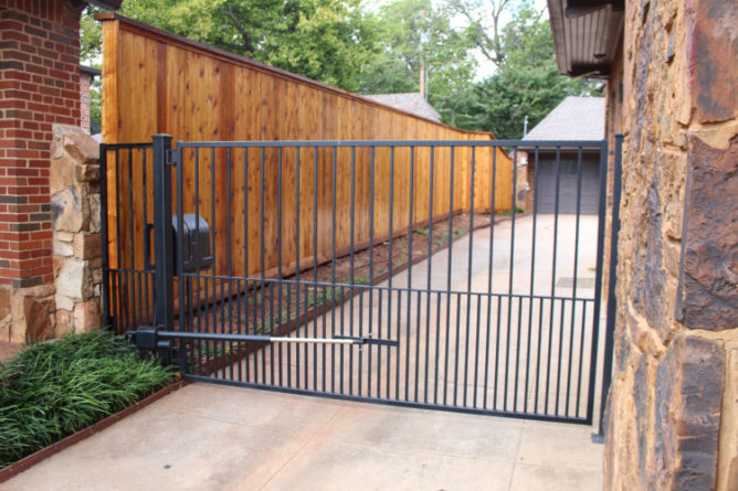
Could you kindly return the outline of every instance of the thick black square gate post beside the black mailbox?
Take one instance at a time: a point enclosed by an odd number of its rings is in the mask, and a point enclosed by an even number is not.
[[[171,224],[170,135],[154,135],[155,329],[172,329],[175,320],[175,237]]]

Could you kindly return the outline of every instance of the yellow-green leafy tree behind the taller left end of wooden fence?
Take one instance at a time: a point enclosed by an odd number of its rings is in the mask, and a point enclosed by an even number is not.
[[[348,90],[372,52],[358,0],[127,0],[122,13]]]

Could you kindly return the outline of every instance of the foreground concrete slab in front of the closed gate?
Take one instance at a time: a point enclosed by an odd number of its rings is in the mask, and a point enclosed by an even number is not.
[[[4,490],[599,490],[591,428],[192,384]]]

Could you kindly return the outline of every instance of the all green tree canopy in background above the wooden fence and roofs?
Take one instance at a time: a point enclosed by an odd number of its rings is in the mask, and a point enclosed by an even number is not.
[[[99,57],[88,8],[81,51]],[[360,94],[418,92],[444,122],[520,138],[592,84],[558,74],[548,19],[530,0],[126,0],[123,15]],[[494,63],[478,76],[479,60]]]

